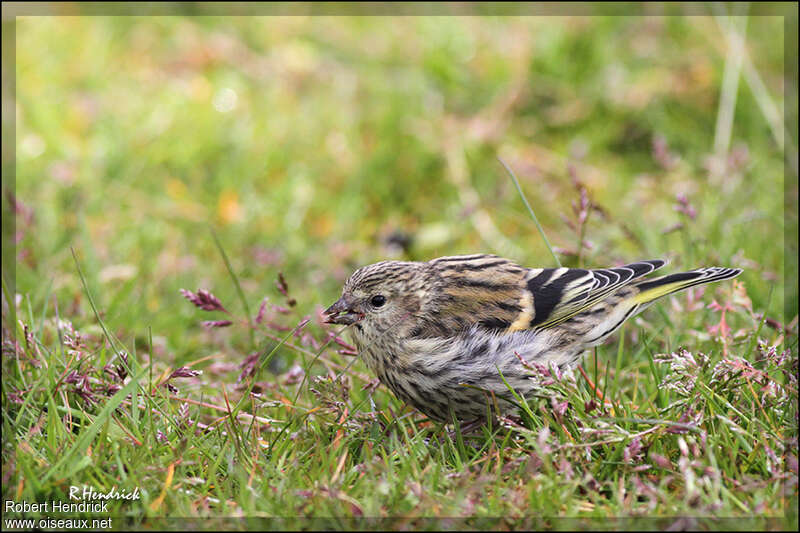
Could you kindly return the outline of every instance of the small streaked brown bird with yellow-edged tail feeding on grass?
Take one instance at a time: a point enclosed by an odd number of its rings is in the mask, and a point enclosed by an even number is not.
[[[535,391],[533,365],[560,370],[659,298],[738,276],[705,267],[645,278],[666,261],[525,268],[492,254],[381,261],[356,270],[325,322],[352,326],[366,366],[430,419],[476,422]]]

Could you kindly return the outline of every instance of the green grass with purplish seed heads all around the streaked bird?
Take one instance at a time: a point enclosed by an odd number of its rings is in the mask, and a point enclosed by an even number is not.
[[[138,488],[117,527],[796,529],[797,178],[761,111],[783,25],[749,19],[763,85],[735,98],[726,28],[20,19],[3,499]],[[565,266],[745,272],[462,434],[320,311],[389,257],[552,266],[517,187]]]

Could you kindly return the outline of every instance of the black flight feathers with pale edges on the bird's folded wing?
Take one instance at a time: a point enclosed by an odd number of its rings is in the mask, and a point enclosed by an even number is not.
[[[538,268],[526,284],[533,299],[530,322],[514,329],[549,328],[585,311],[620,287],[664,266],[660,259],[615,268]]]

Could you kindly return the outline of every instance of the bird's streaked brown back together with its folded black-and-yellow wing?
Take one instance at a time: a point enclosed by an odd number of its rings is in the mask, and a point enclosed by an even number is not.
[[[439,286],[420,336],[447,337],[472,326],[498,332],[548,328],[664,265],[526,269],[495,255],[441,257],[429,263]]]

